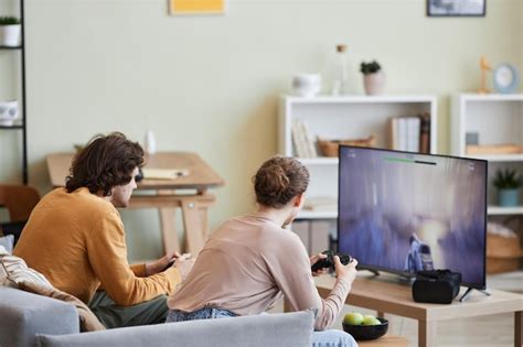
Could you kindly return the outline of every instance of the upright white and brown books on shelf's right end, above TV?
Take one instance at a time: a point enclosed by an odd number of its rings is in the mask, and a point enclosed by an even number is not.
[[[391,149],[430,153],[430,115],[392,117]]]

